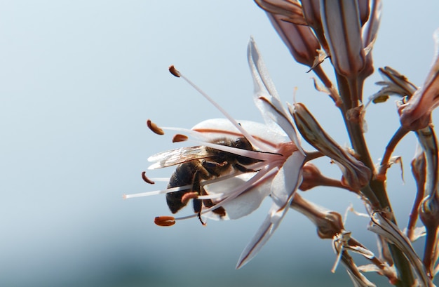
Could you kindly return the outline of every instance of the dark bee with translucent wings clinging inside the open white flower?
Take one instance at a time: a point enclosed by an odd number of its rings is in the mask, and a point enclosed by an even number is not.
[[[250,142],[243,137],[235,139],[219,138],[211,142],[217,145],[257,152]],[[190,199],[193,199],[194,212],[197,213],[198,219],[203,225],[205,225],[205,223],[201,219],[201,210],[203,206],[206,208],[214,206],[214,203],[210,199],[197,199],[199,195],[207,195],[201,182],[219,178],[222,175],[228,175],[236,171],[241,173],[255,172],[255,170],[247,168],[246,166],[260,161],[259,159],[252,159],[247,156],[224,152],[213,147],[205,146],[173,149],[151,156],[149,160],[158,161],[153,165],[155,167],[179,164],[170,177],[168,189],[183,187],[185,185],[190,185],[191,188],[177,192],[169,192],[166,194],[166,203],[172,213],[177,213],[187,205]],[[226,211],[223,207],[215,208],[212,212],[220,217],[226,215]]]

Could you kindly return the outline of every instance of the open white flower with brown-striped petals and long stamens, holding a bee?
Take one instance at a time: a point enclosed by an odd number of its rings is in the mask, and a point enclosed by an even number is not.
[[[193,199],[196,215],[181,218],[170,216],[156,218],[156,223],[163,226],[173,225],[175,220],[196,216],[201,221],[201,217],[241,218],[255,211],[265,197],[270,196],[273,203],[269,213],[248,246],[245,247],[238,260],[237,268],[245,265],[257,254],[288,211],[295,191],[302,182],[302,166],[306,157],[299,145],[292,117],[281,104],[253,39],[250,39],[248,45],[248,62],[255,82],[254,100],[264,117],[265,124],[235,121],[208,95],[171,67],[170,72],[188,81],[227,119],[203,121],[189,131],[181,128],[163,128],[163,130],[170,129],[185,133],[186,135],[178,135],[177,138],[196,142],[196,146],[182,147],[151,156],[149,160],[155,163],[149,169],[189,162],[191,167],[195,166],[191,169],[193,177],[187,180],[189,184],[184,182],[180,186],[168,185],[168,189],[161,191],[125,196],[129,198],[180,192],[177,210]],[[224,138],[229,139],[231,144],[218,142],[218,139]],[[239,142],[242,139],[248,140],[251,147],[240,147],[236,144],[237,140]],[[214,151],[216,154],[212,155]],[[227,157],[229,161],[219,162],[218,151],[227,152],[232,157]],[[231,159],[234,159],[233,164],[230,162]],[[197,168],[200,170],[198,171]],[[221,169],[221,172],[212,175],[216,171],[215,168]],[[174,183],[183,182],[179,181],[180,178],[175,180],[175,174],[171,180]],[[193,192],[194,189],[197,192]],[[175,200],[174,195],[172,199]],[[181,202],[178,202],[179,200]]]

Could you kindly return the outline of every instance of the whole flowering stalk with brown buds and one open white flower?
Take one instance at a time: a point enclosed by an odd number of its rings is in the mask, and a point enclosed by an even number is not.
[[[347,149],[333,140],[304,104],[283,105],[251,39],[248,62],[255,83],[254,101],[265,124],[235,120],[175,67],[170,67],[174,76],[194,86],[226,119],[209,119],[190,130],[160,128],[148,121],[154,133],[175,131],[173,142],[193,145],[149,158],[154,162],[149,169],[177,166],[166,179],[149,179],[142,174],[149,184],[168,182],[166,189],[125,197],[166,194],[172,213],[192,202],[194,214],[181,218],[158,216],[155,222],[161,226],[174,225],[186,218],[198,218],[203,225],[206,218],[238,219],[255,211],[269,197],[272,205],[268,215],[241,254],[237,267],[256,255],[292,208],[316,225],[320,238],[332,239],[337,263],[346,267],[354,286],[374,286],[365,272],[386,276],[396,286],[434,286],[433,279],[439,272],[439,159],[431,112],[439,105],[439,29],[434,34],[433,65],[421,87],[417,88],[391,67],[378,69],[383,78],[377,83],[381,89],[369,97],[366,106],[370,102],[384,102],[391,95],[398,97],[400,127],[383,147],[384,156],[375,166],[364,136],[363,84],[374,72],[372,47],[381,18],[381,1],[255,2],[266,11],[293,58],[316,75],[318,91],[324,91],[334,101],[351,147]],[[335,83],[320,65],[325,60],[332,64]],[[400,157],[392,156],[393,150],[408,133],[415,133],[419,139],[417,156],[411,165],[417,196],[403,232],[387,194],[386,171],[391,164],[400,162]],[[304,150],[301,138],[316,150]],[[337,163],[342,171],[340,180],[325,177],[311,163],[321,156]],[[345,229],[342,215],[306,201],[297,192],[317,186],[339,187],[358,195],[366,207],[365,215],[370,218],[368,229],[377,235],[379,255]],[[416,227],[418,218],[424,227]],[[426,236],[422,258],[411,244],[420,236]],[[370,264],[357,266],[351,253],[362,255]]]

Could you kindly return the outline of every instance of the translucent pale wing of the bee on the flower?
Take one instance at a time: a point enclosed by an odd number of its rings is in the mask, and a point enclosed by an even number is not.
[[[154,163],[151,164],[148,169],[175,166],[176,164],[185,163],[194,159],[204,159],[210,155],[211,154],[203,146],[171,149],[149,156],[148,161],[154,161]]]

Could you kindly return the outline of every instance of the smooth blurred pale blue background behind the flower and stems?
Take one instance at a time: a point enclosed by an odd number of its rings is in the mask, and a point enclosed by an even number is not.
[[[421,85],[433,58],[439,2],[417,3],[384,1],[373,54],[376,68],[389,65]],[[254,260],[234,269],[269,201],[241,220],[163,228],[153,220],[170,214],[164,196],[122,199],[165,187],[140,176],[148,156],[175,147],[169,135],[151,133],[147,119],[190,128],[222,117],[171,76],[169,65],[236,119],[262,121],[252,103],[250,35],[283,100],[292,102],[297,87],[295,99],[348,145],[332,101],[313,89],[313,75],[295,63],[252,1],[0,1],[0,286],[351,286],[344,267],[330,272],[331,242],[318,239],[295,211]],[[365,97],[380,79],[367,80]],[[366,137],[377,162],[399,124],[395,100],[367,109]],[[395,153],[403,156],[404,180],[398,166],[389,170],[402,227],[415,191],[415,146],[407,136]],[[336,166],[318,164],[339,178]],[[363,211],[342,190],[302,195],[342,214],[351,203]],[[346,229],[376,251],[367,223],[351,213]],[[414,246],[421,253],[423,240]]]

